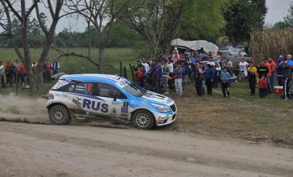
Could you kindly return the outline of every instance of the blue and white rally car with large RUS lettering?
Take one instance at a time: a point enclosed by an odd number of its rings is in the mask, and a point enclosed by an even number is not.
[[[109,74],[62,75],[48,94],[50,121],[69,124],[73,119],[132,123],[139,129],[175,121],[175,102],[133,82]]]

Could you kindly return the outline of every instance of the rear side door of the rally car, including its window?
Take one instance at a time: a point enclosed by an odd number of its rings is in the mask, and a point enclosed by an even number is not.
[[[93,95],[92,82],[71,84],[66,91],[69,95],[66,105],[76,119],[96,119],[95,105],[98,98]]]

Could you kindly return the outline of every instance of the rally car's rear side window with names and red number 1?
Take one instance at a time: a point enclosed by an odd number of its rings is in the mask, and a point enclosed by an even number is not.
[[[71,84],[68,86],[67,92],[78,93],[83,95],[92,95],[93,90],[92,82],[82,82],[77,84]]]

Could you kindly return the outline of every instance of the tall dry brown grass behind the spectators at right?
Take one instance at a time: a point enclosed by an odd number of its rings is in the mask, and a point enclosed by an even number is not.
[[[257,63],[262,55],[274,57],[276,62],[280,55],[288,55],[293,51],[293,29],[252,28],[250,46]]]

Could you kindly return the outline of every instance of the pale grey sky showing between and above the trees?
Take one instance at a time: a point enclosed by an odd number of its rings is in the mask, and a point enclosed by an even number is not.
[[[275,24],[278,21],[283,21],[284,18],[288,14],[288,8],[289,4],[292,3],[293,0],[266,0],[267,7],[269,8],[268,14],[266,15],[266,24]],[[32,4],[32,1],[27,1],[27,7],[29,7]],[[40,12],[44,12],[47,17],[50,17],[50,13],[47,11],[47,9],[43,6],[40,6]],[[62,15],[62,13],[61,13]],[[32,12],[32,16],[36,18],[35,10]],[[47,22],[47,26],[50,26],[50,20]],[[85,27],[87,24],[84,23],[84,20],[80,18],[79,20],[75,20],[73,17],[63,17],[58,21],[58,24],[56,26],[55,33],[58,34],[60,31],[62,31],[65,27],[69,28],[71,24],[72,31],[79,31],[83,32],[85,31]],[[105,23],[103,23],[105,25]],[[0,28],[0,31],[3,31],[2,28]]]

